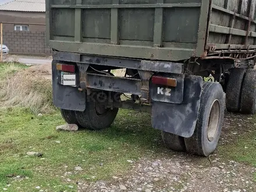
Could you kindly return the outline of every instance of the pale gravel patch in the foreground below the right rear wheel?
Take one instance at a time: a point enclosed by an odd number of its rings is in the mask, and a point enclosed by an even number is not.
[[[188,155],[140,159],[129,174],[79,183],[78,191],[255,191],[254,168],[234,161],[197,165]],[[155,165],[155,162],[158,165]]]

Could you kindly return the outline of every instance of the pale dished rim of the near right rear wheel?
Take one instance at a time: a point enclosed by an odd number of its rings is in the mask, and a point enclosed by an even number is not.
[[[208,121],[208,129],[207,129],[207,137],[209,141],[213,141],[217,130],[218,130],[218,124],[219,124],[219,101],[216,99],[211,106],[211,111],[209,115],[209,121]]]

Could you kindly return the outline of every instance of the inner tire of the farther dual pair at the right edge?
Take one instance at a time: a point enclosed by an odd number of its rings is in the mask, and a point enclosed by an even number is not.
[[[226,109],[228,112],[240,111],[241,87],[246,74],[245,69],[233,68],[226,89]]]

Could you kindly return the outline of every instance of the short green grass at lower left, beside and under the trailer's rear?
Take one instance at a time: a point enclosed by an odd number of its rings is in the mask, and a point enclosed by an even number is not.
[[[1,111],[0,123],[0,189],[10,183],[13,191],[33,191],[36,186],[66,190],[79,180],[122,175],[131,166],[127,159],[163,150],[155,140],[159,131],[151,128],[150,115],[144,113],[120,110],[114,125],[104,131],[59,132],[55,127],[64,123],[59,112],[39,118],[20,108]],[[27,157],[27,151],[41,152],[45,159]],[[83,171],[69,177],[72,183],[66,182],[61,176],[74,172],[77,165]],[[13,182],[8,175],[29,179]]]

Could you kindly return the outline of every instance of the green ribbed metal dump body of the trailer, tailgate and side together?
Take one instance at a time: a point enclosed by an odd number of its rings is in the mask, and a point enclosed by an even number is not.
[[[180,61],[225,52],[235,58],[238,50],[256,48],[255,5],[255,0],[47,0],[47,36],[53,49],[80,54]]]

